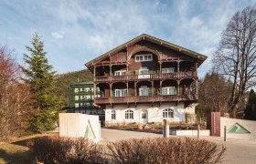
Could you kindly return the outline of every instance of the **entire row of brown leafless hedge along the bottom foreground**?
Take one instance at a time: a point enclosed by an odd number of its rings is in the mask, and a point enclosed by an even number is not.
[[[35,161],[44,163],[216,164],[226,148],[196,138],[127,139],[99,145],[83,138],[45,137],[29,142]]]

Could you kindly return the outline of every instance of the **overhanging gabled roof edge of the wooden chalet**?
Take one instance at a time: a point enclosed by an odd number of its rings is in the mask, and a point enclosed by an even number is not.
[[[133,38],[132,40],[124,43],[123,45],[121,46],[117,46],[116,48],[106,52],[105,54],[101,55],[101,56],[98,56],[96,58],[94,58],[93,60],[91,60],[90,62],[86,63],[85,66],[88,67],[90,70],[91,70],[91,67],[93,65],[94,62],[100,60],[100,59],[103,59],[105,58],[106,56],[109,56],[113,53],[116,53],[120,50],[122,50],[123,48],[126,48],[127,46],[131,46],[133,45],[134,43],[137,43],[141,40],[148,40],[148,41],[151,41],[151,42],[154,42],[155,44],[158,44],[158,45],[161,45],[161,46],[166,46],[168,48],[171,48],[171,49],[174,49],[174,50],[177,50],[177,51],[180,51],[180,52],[183,52],[184,54],[187,54],[188,56],[192,56],[192,57],[195,57],[197,58],[200,62],[199,62],[199,65],[205,61],[207,59],[208,56],[204,56],[202,54],[199,54],[195,51],[192,51],[192,50],[189,50],[185,47],[182,47],[182,46],[177,46],[175,44],[172,44],[172,43],[169,43],[169,42],[166,42],[165,40],[162,40],[162,39],[159,39],[159,38],[156,38],[154,36],[149,36],[149,35],[146,35],[146,34],[142,34],[141,36],[137,36],[135,38]]]

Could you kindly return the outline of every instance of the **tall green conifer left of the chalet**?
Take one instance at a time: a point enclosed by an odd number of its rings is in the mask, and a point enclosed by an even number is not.
[[[23,70],[32,87],[37,108],[33,126],[37,131],[50,130],[57,122],[59,111],[59,97],[56,96],[57,87],[54,81],[56,72],[48,64],[41,36],[35,33],[31,44],[32,46],[26,46],[28,54],[24,54],[24,60],[28,66],[23,67]]]

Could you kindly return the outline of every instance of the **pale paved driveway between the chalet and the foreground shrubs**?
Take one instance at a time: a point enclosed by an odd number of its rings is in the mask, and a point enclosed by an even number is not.
[[[101,138],[103,141],[114,141],[127,138],[158,137],[162,137],[162,135],[101,128]],[[223,159],[223,163],[225,164],[256,164],[256,140],[240,140],[228,138],[228,141],[224,142],[223,138],[216,137],[202,137],[202,139],[224,144],[227,147],[225,158]]]

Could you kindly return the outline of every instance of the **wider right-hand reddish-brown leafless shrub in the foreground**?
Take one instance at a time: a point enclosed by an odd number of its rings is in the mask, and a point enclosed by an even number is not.
[[[225,147],[195,138],[128,139],[108,144],[111,163],[219,163]]]

